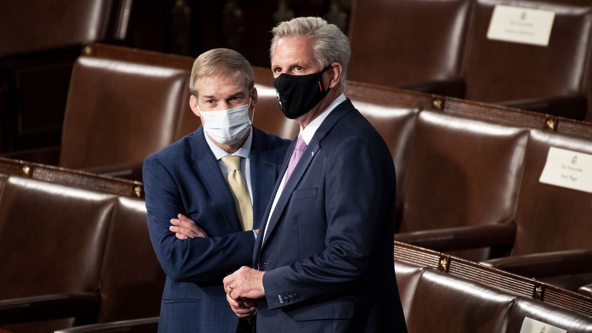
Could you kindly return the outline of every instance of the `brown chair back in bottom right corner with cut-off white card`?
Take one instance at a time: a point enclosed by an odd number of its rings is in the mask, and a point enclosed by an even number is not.
[[[518,297],[512,306],[506,333],[520,333],[525,318],[535,319],[556,328],[565,329],[570,333],[592,332],[592,317],[590,316],[540,302],[540,300]],[[550,331],[548,326],[545,331]]]

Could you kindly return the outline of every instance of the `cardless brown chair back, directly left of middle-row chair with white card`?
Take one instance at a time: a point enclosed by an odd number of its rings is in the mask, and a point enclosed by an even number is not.
[[[489,245],[511,244],[527,137],[528,131],[517,127],[422,111],[404,180],[401,233],[395,240],[413,243],[430,235],[448,250],[471,248],[462,237],[478,229],[486,230],[481,238]],[[445,230],[422,231],[432,229]],[[489,251],[459,255],[483,260]]]

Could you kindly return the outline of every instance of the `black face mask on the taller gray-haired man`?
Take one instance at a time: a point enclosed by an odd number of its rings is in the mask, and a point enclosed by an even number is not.
[[[274,79],[279,108],[288,119],[297,119],[317,105],[329,92],[323,87],[323,73],[329,69],[308,75],[281,73]]]

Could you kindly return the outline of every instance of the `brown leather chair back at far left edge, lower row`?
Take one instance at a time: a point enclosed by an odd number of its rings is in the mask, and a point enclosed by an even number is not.
[[[2,299],[94,292],[117,197],[30,178],[4,179]]]

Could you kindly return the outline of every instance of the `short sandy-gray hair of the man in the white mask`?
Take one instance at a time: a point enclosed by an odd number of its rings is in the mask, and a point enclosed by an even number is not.
[[[198,97],[197,87],[195,87],[198,79],[208,76],[229,76],[236,72],[240,74],[241,84],[250,91],[255,85],[255,75],[250,63],[240,53],[230,49],[213,49],[204,52],[193,63],[189,91],[191,95]]]

